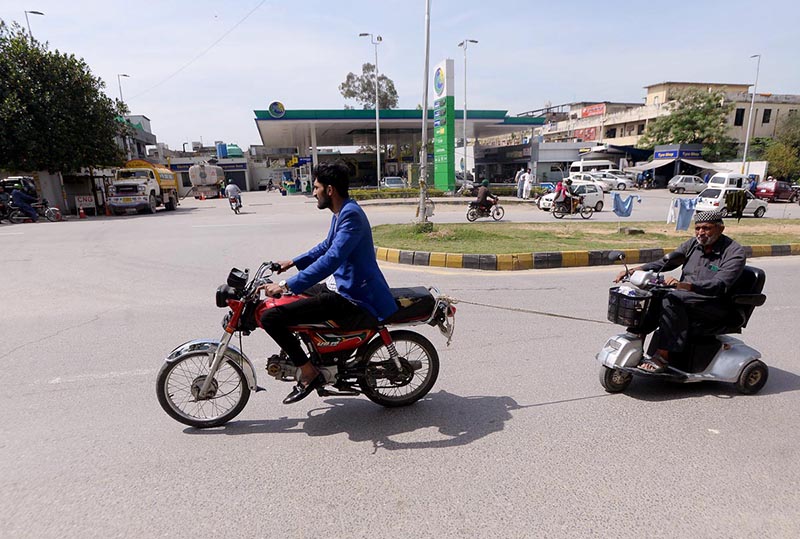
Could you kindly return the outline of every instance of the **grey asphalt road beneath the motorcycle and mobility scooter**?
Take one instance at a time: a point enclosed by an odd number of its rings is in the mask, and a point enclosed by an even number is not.
[[[221,335],[214,290],[232,266],[297,254],[329,222],[296,197],[248,193],[244,210],[187,200],[155,216],[0,226],[0,536],[800,534],[799,258],[751,261],[769,297],[744,333],[771,369],[756,396],[643,380],[604,393],[594,355],[621,330],[605,322],[610,268],[385,264],[393,286],[464,300],[449,348],[421,330],[442,359],[426,399],[284,406],[290,386],[263,371],[275,346],[259,333],[244,350],[268,391],[197,431],[156,401],[163,357]]]

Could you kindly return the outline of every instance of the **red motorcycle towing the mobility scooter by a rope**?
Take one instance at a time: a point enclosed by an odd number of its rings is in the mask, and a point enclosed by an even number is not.
[[[279,264],[265,262],[250,278],[249,270],[232,269],[227,284],[217,288],[217,307],[229,311],[222,321],[220,340],[200,339],[175,348],[156,380],[158,402],[167,414],[186,425],[209,428],[224,425],[241,412],[256,383],[252,362],[241,349],[242,335],[259,327],[261,314],[304,298],[288,294],[260,298],[258,288],[272,282]],[[387,407],[407,406],[433,388],[439,374],[439,355],[433,344],[414,331],[391,327],[421,324],[438,327],[447,337],[455,329],[454,300],[435,288],[393,288],[399,310],[375,327],[355,331],[331,323],[291,328],[306,346],[314,365],[325,377],[320,396],[357,396]],[[239,333],[239,348],[230,344]],[[282,382],[296,382],[299,369],[285,352],[267,360],[267,373]]]

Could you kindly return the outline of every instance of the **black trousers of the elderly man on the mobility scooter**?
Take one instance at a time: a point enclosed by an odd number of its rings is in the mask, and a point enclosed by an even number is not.
[[[658,298],[652,301],[658,302]],[[657,339],[659,348],[682,352],[690,333],[713,331],[724,325],[721,321],[726,318],[729,307],[724,299],[701,296],[687,290],[672,290],[664,295],[660,306],[651,305],[645,323],[637,333],[655,330],[653,339]]]

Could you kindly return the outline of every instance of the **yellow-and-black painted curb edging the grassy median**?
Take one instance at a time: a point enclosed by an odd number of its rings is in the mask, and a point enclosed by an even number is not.
[[[629,264],[640,264],[659,260],[674,248],[614,249],[625,253]],[[608,266],[612,249],[598,251],[551,251],[542,253],[514,254],[461,254],[429,253],[427,251],[405,251],[387,247],[376,247],[375,256],[383,262],[431,266],[439,268],[477,269],[485,271],[517,271],[530,269],[572,268],[582,266]],[[745,245],[747,258],[764,256],[800,255],[800,243],[783,245]]]

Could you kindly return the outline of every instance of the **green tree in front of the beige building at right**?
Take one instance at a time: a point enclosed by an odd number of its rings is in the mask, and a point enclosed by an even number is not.
[[[735,157],[736,141],[728,136],[728,115],[733,103],[725,103],[719,90],[689,88],[676,94],[665,106],[670,111],[650,122],[639,141],[640,148],[657,144],[703,144],[703,157]],[[733,155],[731,155],[731,153]]]

